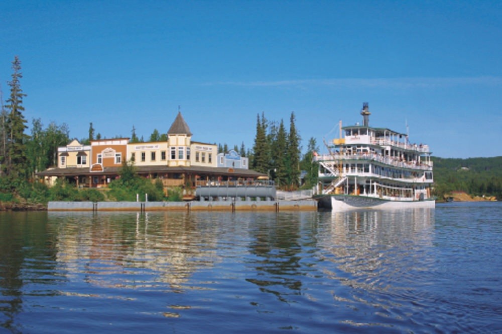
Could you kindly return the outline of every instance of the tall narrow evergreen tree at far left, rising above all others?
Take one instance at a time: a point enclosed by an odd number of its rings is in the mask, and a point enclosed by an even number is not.
[[[8,113],[5,172],[11,180],[22,180],[27,177],[26,141],[28,135],[25,134],[27,126],[23,115],[25,110],[23,97],[26,94],[21,89],[20,79],[23,75],[21,74],[21,61],[18,56],[14,57],[12,69],[12,81],[9,82],[11,95],[5,105]]]

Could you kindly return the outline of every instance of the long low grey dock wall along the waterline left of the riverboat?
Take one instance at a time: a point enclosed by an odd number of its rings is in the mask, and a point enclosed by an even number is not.
[[[49,202],[49,211],[315,211],[317,202],[191,201],[191,202]]]

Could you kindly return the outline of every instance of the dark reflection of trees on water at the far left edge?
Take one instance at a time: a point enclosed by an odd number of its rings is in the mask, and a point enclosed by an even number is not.
[[[55,238],[45,212],[0,213],[0,327],[20,331],[16,314],[23,311],[27,285],[50,285],[44,277],[55,267]],[[39,292],[42,288],[39,288]],[[49,289],[49,294],[53,293]]]

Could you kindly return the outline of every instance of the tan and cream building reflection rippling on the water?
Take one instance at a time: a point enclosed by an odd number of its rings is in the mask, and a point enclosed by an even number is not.
[[[83,275],[92,285],[156,289],[167,283],[178,291],[194,271],[211,265],[205,258],[215,256],[214,247],[207,247],[215,234],[199,229],[184,212],[76,217],[78,223],[67,216],[60,227],[58,261],[70,277]]]

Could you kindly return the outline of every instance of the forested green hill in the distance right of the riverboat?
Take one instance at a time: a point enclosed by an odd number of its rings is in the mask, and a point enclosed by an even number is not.
[[[472,196],[495,196],[502,200],[502,156],[441,158],[434,161],[434,194],[463,191]]]

